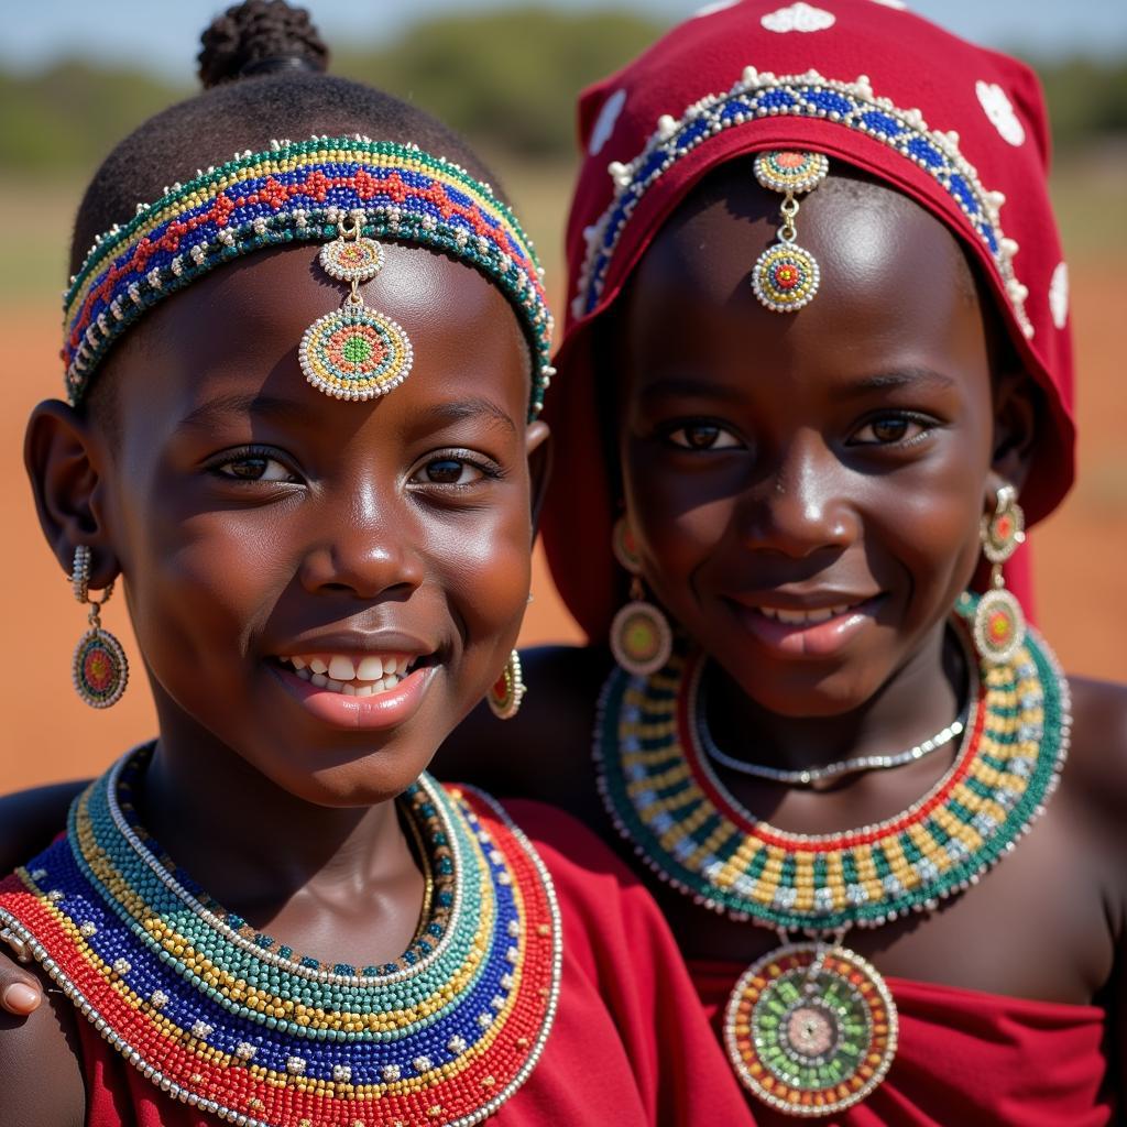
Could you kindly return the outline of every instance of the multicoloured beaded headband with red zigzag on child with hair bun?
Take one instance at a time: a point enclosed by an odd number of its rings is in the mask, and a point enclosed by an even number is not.
[[[345,222],[370,238],[444,250],[500,287],[534,346],[534,418],[553,374],[552,318],[543,270],[516,218],[458,165],[358,135],[248,149],[139,204],[130,223],[100,236],[64,295],[68,398],[79,402],[110,344],[168,294],[263,247],[336,239]]]

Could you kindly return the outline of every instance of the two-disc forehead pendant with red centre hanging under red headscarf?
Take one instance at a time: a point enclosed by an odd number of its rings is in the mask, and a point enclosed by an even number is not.
[[[755,179],[772,192],[781,192],[783,202],[779,242],[755,259],[752,289],[760,302],[777,313],[793,313],[808,305],[818,292],[820,273],[817,259],[795,240],[798,231],[800,192],[816,188],[829,171],[829,161],[820,152],[772,150],[755,157]]]

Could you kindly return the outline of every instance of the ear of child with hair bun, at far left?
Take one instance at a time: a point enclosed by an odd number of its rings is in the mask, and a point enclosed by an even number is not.
[[[101,444],[72,407],[48,399],[32,411],[24,436],[24,465],[32,480],[39,525],[69,575],[74,549],[90,548],[90,586],[108,587],[121,571],[106,526]]]

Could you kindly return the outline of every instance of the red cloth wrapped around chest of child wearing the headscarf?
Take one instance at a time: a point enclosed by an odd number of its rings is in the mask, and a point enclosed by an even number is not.
[[[735,962],[692,961],[704,1011],[719,1032]],[[899,1013],[899,1047],[881,1084],[820,1127],[1103,1127],[1108,1072],[1104,1012],[980,991],[886,978]],[[795,1119],[756,1107],[756,1122]]]

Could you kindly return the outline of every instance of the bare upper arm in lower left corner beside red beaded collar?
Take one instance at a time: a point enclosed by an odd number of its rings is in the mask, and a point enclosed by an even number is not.
[[[0,973],[17,965],[0,949]],[[0,1122],[20,1127],[80,1127],[86,1088],[74,1011],[42,979],[48,999],[27,1018],[0,1012]]]

